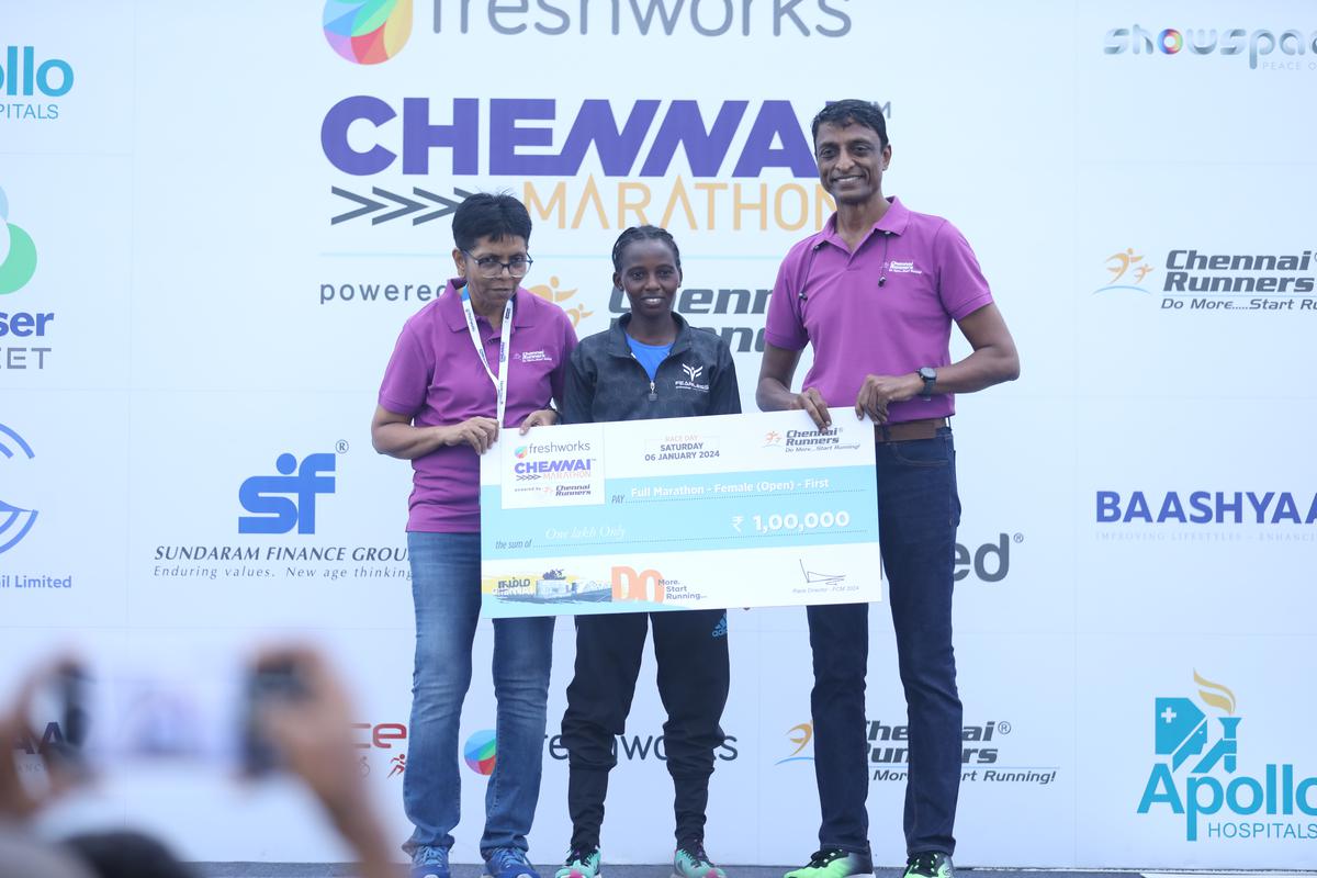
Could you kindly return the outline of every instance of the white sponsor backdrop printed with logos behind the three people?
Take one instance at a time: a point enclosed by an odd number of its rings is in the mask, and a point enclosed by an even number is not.
[[[186,670],[200,691],[254,642],[311,637],[353,682],[361,723],[383,727],[362,731],[363,770],[402,841],[410,470],[371,452],[367,423],[417,288],[450,271],[435,212],[460,191],[528,200],[527,283],[581,334],[618,308],[619,230],[666,222],[684,309],[739,350],[752,407],[763,291],[828,209],[809,120],[860,96],[886,105],[888,192],[961,228],[1023,357],[1019,382],[963,398],[956,419],[957,860],[1317,866],[1308,4],[416,0],[410,38],[374,65],[331,50],[323,5],[0,11],[4,219],[38,251],[0,296],[0,500],[37,511],[0,552],[0,688],[74,644],[109,667]],[[726,33],[701,33],[724,16]],[[42,93],[67,84],[47,62],[71,70],[67,91]],[[395,117],[340,130],[345,100]],[[608,142],[605,122],[622,129],[643,101],[656,116],[636,121],[637,143],[557,158],[576,137]],[[726,112],[731,133],[647,170],[691,107],[705,130]],[[396,158],[345,167],[373,147]],[[17,313],[53,317],[24,336]],[[333,490],[279,495],[295,503],[287,533],[240,533],[240,486],[283,454],[324,455],[309,463]],[[0,517],[0,545],[29,517]],[[238,557],[191,557],[224,548]],[[46,578],[71,587],[17,587]],[[884,737],[905,711],[885,607],[871,625],[872,840],[897,864],[902,766]],[[558,625],[540,864],[569,835],[552,736],[570,632]],[[803,613],[732,611],[731,648],[710,850],[798,862],[818,817]],[[482,631],[478,667],[489,649]],[[612,862],[670,854],[652,665],[641,678],[608,800]],[[1173,698],[1206,731],[1167,769],[1181,727],[1159,737],[1155,706]],[[464,741],[493,717],[477,674]],[[1200,765],[1218,748],[1237,760]],[[242,788],[227,770],[121,769],[46,821],[126,819],[199,860],[346,856],[296,788]],[[457,860],[475,860],[483,787],[464,769]]]

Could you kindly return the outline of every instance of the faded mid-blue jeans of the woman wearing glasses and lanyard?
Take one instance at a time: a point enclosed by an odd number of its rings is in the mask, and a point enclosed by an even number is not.
[[[416,667],[403,807],[416,827],[403,845],[452,848],[461,816],[458,723],[471,682],[481,609],[481,536],[408,533],[416,603]],[[527,849],[540,798],[540,765],[553,657],[553,617],[494,620],[497,758],[485,794],[481,850]]]

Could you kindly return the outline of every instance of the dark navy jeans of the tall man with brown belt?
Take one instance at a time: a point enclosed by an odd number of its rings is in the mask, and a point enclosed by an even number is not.
[[[951,429],[877,444],[878,538],[896,628],[910,740],[906,850],[955,852],[961,708],[951,648],[951,588],[960,499]],[[814,771],[819,846],[869,850],[871,746],[864,716],[868,604],[810,607],[814,652]],[[884,717],[885,719],[885,717]],[[900,745],[900,744],[897,744]]]

